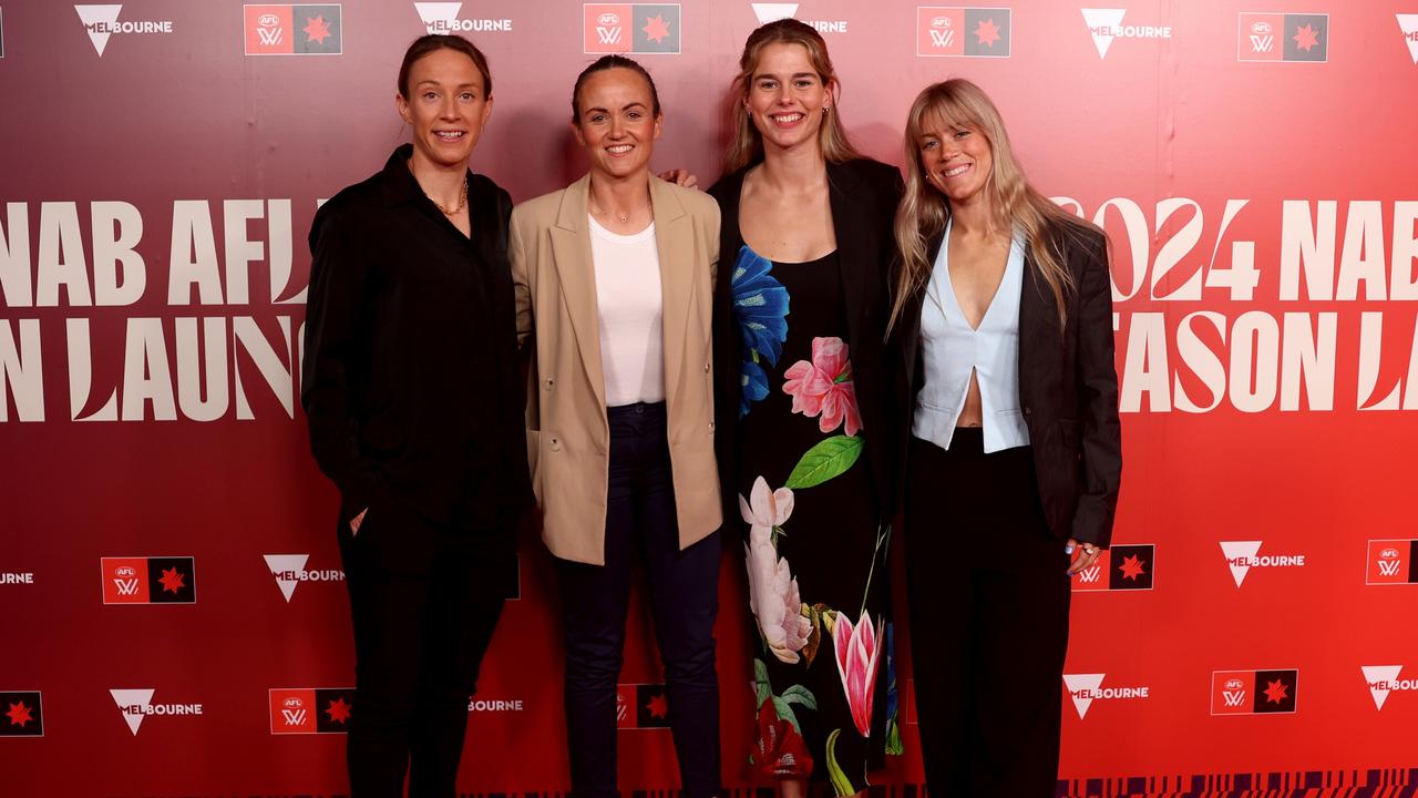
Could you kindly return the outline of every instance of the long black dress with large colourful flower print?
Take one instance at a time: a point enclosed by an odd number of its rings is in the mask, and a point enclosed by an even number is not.
[[[886,706],[889,528],[861,457],[871,430],[838,256],[771,263],[743,246],[730,285],[743,334],[736,488],[760,633],[752,761],[851,795],[899,736]]]

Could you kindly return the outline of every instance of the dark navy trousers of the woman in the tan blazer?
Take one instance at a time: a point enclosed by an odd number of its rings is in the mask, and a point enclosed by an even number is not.
[[[566,737],[577,798],[618,795],[615,683],[631,568],[645,561],[679,775],[689,798],[719,794],[719,532],[681,551],[665,405],[610,408],[605,565],[557,559],[566,619]],[[635,707],[630,707],[635,711]]]

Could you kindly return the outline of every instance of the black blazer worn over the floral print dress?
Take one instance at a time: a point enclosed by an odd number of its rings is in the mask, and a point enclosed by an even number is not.
[[[715,285],[715,450],[723,487],[725,520],[739,518],[737,436],[739,371],[743,362],[743,335],[733,319],[733,263],[743,246],[739,233],[739,195],[743,176],[752,166],[719,179],[709,195],[719,200],[719,277]],[[876,490],[882,518],[895,508],[895,400],[888,378],[885,331],[892,253],[892,220],[900,200],[900,172],[895,166],[866,158],[827,165],[828,202],[837,234],[842,288],[847,294],[848,351],[856,388],[862,430],[866,437],[866,466]]]

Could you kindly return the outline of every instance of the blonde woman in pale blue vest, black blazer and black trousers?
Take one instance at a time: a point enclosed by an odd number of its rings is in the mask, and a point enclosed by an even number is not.
[[[1107,547],[1122,473],[1107,241],[1028,185],[968,81],[917,95],[906,162],[891,328],[926,784],[1042,798],[1065,574]]]

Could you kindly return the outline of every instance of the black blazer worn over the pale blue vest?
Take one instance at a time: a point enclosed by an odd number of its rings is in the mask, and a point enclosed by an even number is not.
[[[1068,270],[1078,291],[1069,297],[1061,332],[1054,293],[1025,256],[1020,291],[1020,408],[1029,429],[1039,500],[1049,531],[1059,538],[1107,547],[1123,471],[1117,423],[1117,372],[1113,366],[1113,294],[1107,280],[1107,240],[1092,227],[1072,226],[1065,240]],[[929,241],[929,263],[944,231]],[[1028,250],[1025,250],[1028,253]],[[892,331],[896,395],[906,452],[916,393],[922,388],[920,310],[925,287],[902,310]],[[905,467],[903,463],[899,464]]]

